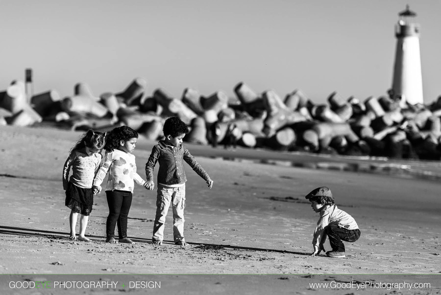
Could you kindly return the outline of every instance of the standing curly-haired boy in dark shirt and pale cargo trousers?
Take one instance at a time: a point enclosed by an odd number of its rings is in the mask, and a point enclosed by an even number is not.
[[[152,241],[158,245],[162,244],[165,219],[170,204],[172,204],[174,243],[185,246],[184,208],[187,177],[184,171],[184,161],[207,182],[209,188],[213,187],[213,181],[182,144],[182,138],[189,132],[187,125],[178,117],[170,117],[165,121],[163,131],[165,140],[159,141],[153,147],[146,163],[147,188],[153,189],[153,168],[156,162],[159,162],[156,216]]]

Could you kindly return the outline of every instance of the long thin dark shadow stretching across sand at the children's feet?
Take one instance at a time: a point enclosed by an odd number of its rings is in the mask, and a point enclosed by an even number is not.
[[[36,229],[23,228],[23,227],[0,226],[0,234],[3,234],[3,235],[17,235],[17,236],[44,237],[44,238],[48,238],[48,239],[68,240],[69,241],[69,233],[45,231],[45,230],[36,230]],[[103,242],[103,243],[105,243],[105,239],[106,239],[106,237],[103,237],[103,236],[86,235],[86,237],[88,237],[92,241]],[[128,238],[130,238],[132,241],[135,241],[135,242],[138,242],[138,243],[153,244],[153,241],[151,239],[136,238],[136,237],[128,237]],[[79,241],[79,242],[81,242],[81,241]],[[174,244],[173,241],[163,241],[163,243],[164,244]],[[236,246],[236,245],[232,246],[232,245],[210,244],[210,243],[196,243],[196,242],[187,242],[187,244],[199,245],[199,246],[202,246],[202,247],[204,247],[206,249],[212,249],[212,250],[232,249],[232,250],[247,250],[247,251],[263,251],[263,252],[289,253],[289,254],[305,255],[305,256],[309,256],[310,255],[309,253],[305,253],[305,252],[293,252],[293,251],[278,250],[278,249],[243,247],[243,246]]]

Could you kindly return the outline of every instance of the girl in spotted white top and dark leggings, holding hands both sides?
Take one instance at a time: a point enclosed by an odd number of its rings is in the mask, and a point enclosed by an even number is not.
[[[146,187],[146,182],[136,173],[135,156],[132,155],[138,133],[127,126],[113,129],[104,149],[106,153],[94,180],[94,193],[101,191],[101,183],[110,170],[106,186],[109,215],[106,222],[106,242],[117,243],[115,226],[118,223],[119,242],[134,242],[127,238],[127,215],[132,204],[134,182]]]

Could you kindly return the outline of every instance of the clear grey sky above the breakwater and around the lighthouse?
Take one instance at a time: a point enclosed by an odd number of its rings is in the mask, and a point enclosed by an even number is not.
[[[406,4],[421,26],[424,102],[441,95],[440,0],[0,0],[0,91],[32,68],[34,93],[99,96],[147,80],[176,98],[186,87],[234,96],[244,81],[315,103],[385,95],[394,25]]]

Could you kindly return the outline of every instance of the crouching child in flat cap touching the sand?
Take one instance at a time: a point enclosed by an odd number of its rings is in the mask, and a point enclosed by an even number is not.
[[[314,231],[314,253],[312,256],[325,251],[323,243],[326,235],[329,237],[332,251],[326,252],[328,257],[344,257],[343,241],[354,242],[360,238],[360,229],[354,218],[337,208],[332,192],[327,187],[316,188],[305,196],[311,202],[311,207],[320,213],[316,230]]]

